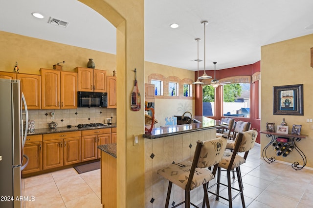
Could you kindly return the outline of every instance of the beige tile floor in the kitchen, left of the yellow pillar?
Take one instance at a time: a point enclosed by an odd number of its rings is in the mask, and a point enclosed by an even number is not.
[[[22,180],[26,208],[102,208],[100,170],[78,174],[74,168]]]

